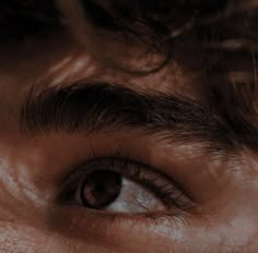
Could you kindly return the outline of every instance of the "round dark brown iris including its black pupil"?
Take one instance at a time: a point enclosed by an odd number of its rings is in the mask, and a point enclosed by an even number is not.
[[[120,194],[121,174],[109,170],[90,173],[81,188],[81,200],[86,207],[101,209],[110,205]]]

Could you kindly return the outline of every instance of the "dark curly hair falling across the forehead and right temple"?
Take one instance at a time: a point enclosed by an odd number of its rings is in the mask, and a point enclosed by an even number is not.
[[[198,72],[207,84],[208,104],[216,105],[214,110],[231,129],[239,134],[249,131],[251,140],[247,141],[256,141],[258,1],[78,0],[80,10],[73,10],[78,16],[70,10],[72,1],[57,2],[1,2],[0,38],[23,39],[68,26],[83,34],[80,27],[84,26],[77,22],[87,21],[101,38],[143,48],[145,58],[162,56],[154,68],[134,71],[122,65],[125,71],[148,74],[177,61]],[[178,51],[183,57],[177,58]]]

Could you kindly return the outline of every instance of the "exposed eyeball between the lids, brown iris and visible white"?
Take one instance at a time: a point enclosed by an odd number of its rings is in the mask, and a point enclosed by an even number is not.
[[[78,193],[77,202],[94,209],[125,213],[166,209],[165,203],[146,186],[108,170],[89,174]]]

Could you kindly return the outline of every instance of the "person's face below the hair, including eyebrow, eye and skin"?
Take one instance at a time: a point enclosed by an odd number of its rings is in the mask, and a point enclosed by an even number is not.
[[[1,252],[257,252],[257,155],[198,75],[119,72],[64,34],[0,50]]]

